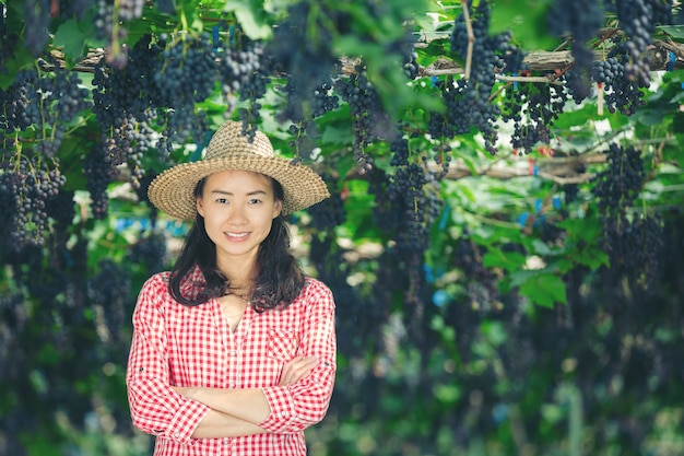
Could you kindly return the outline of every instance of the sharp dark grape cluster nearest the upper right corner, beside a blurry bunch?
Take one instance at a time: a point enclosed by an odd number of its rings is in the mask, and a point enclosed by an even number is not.
[[[633,115],[639,106],[646,104],[644,89],[648,87],[649,83],[640,78],[638,80],[629,78],[627,69],[629,60],[627,43],[616,40],[608,58],[593,65],[592,78],[603,84],[604,103],[610,113],[618,110],[625,115]]]

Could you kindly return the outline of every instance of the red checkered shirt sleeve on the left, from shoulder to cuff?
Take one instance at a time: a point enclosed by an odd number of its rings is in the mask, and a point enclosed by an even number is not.
[[[163,303],[166,281],[154,276],[140,291],[133,312],[133,340],[126,384],[133,424],[141,431],[178,443],[193,443],[194,429],[209,407],[170,388]]]

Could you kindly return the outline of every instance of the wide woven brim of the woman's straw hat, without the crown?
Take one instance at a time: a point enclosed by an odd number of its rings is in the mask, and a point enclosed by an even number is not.
[[[150,201],[166,214],[180,220],[194,220],[194,189],[204,177],[221,171],[249,171],[264,174],[283,187],[284,215],[306,209],[330,197],[328,187],[311,168],[292,164],[290,160],[268,156],[229,155],[176,165],[160,174],[150,184]]]

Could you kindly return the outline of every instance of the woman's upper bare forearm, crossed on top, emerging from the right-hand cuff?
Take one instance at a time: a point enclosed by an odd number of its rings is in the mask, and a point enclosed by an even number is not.
[[[235,417],[252,425],[266,420],[271,407],[260,388],[222,389],[188,387],[176,388],[184,396],[202,402],[213,410]]]

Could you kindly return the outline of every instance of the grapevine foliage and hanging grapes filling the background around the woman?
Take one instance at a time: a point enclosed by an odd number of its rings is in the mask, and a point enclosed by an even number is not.
[[[149,454],[130,316],[187,226],[146,186],[226,118],[332,194],[312,455],[682,454],[676,3],[0,0],[0,454]]]

